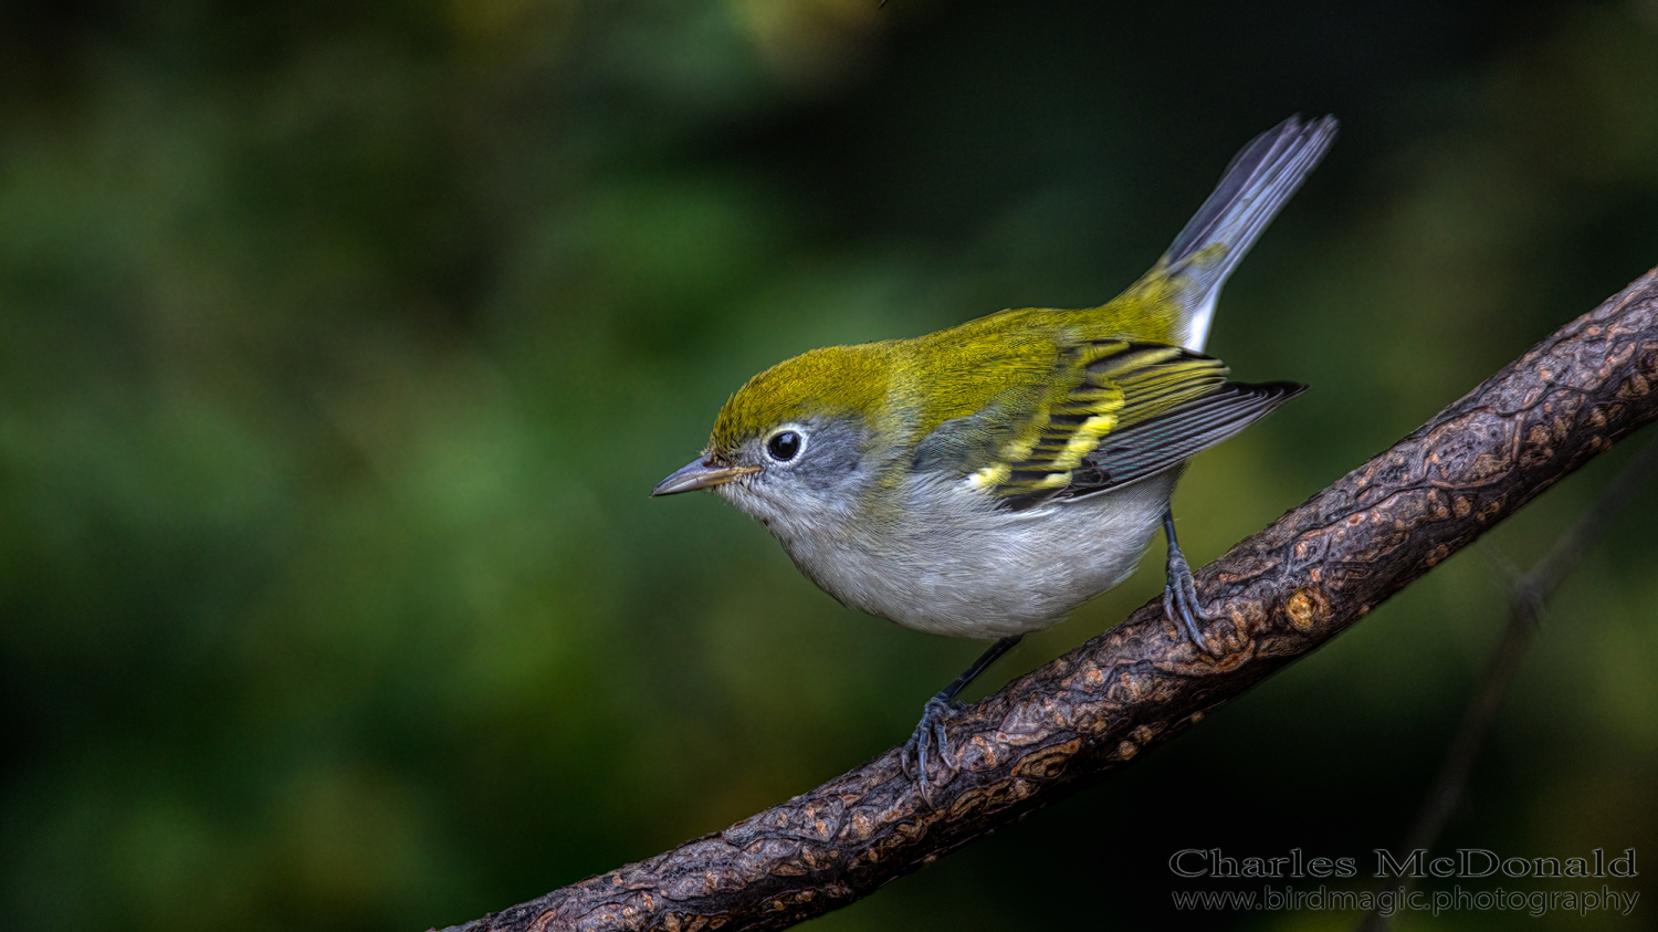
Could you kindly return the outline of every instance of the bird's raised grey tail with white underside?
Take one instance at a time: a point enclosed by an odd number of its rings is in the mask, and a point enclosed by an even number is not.
[[[1335,138],[1333,116],[1305,123],[1292,116],[1262,133],[1232,159],[1214,194],[1174,237],[1154,274],[1180,282],[1187,350],[1202,352],[1220,285]]]

